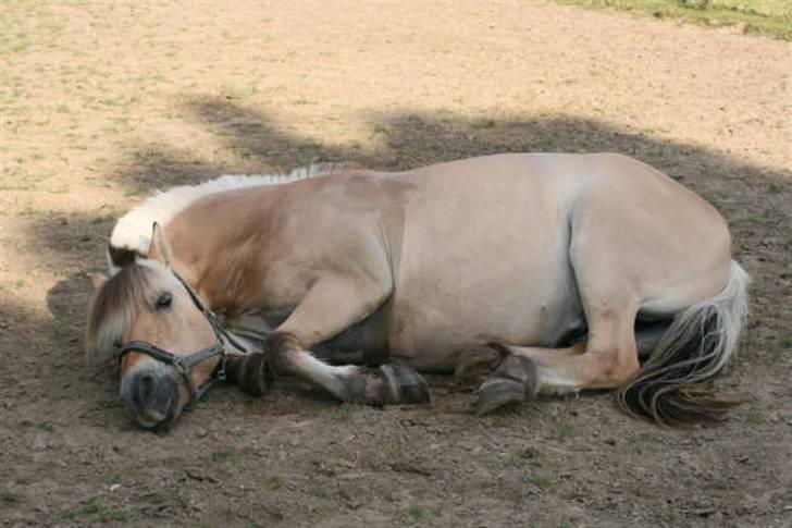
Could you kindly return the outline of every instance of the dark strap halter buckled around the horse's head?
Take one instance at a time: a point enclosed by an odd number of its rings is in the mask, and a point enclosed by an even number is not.
[[[187,284],[187,282],[182,279],[182,277],[176,273],[175,270],[172,269],[171,271],[187,291],[189,297],[193,299],[193,304],[195,305],[195,307],[198,308],[198,310],[203,315],[203,318],[207,320],[207,322],[209,322],[209,326],[212,327],[212,331],[214,332],[214,343],[210,346],[207,346],[206,348],[193,352],[191,354],[178,356],[176,354],[173,354],[172,352],[160,348],[159,346],[147,341],[129,341],[121,347],[119,364],[121,364],[121,360],[129,352],[137,352],[140,354],[146,354],[147,356],[157,359],[158,361],[162,361],[165,365],[173,366],[173,368],[176,370],[176,372],[178,372],[178,374],[189,388],[189,404],[193,404],[197,402],[201,396],[203,396],[203,394],[206,394],[209,388],[211,388],[214,383],[225,380],[225,364],[230,355],[243,356],[246,354],[250,354],[252,351],[248,349],[246,346],[242,345],[236,339],[234,339],[228,333],[228,331],[225,330],[220,323],[218,316],[215,316],[212,310],[207,308],[196,291],[193,290],[193,287]],[[226,344],[232,345],[235,349],[228,351],[226,348]],[[206,379],[206,381],[203,381],[203,383],[201,383],[200,385],[196,385],[195,381],[193,381],[191,376],[193,367],[203,361],[205,359],[209,359],[213,356],[221,357],[220,366],[212,371],[212,373],[209,376],[209,378]]]

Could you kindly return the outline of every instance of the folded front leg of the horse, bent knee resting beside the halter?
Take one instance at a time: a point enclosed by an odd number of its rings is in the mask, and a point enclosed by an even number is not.
[[[388,295],[388,280],[370,275],[322,277],[268,340],[268,354],[275,369],[305,379],[343,402],[428,402],[426,382],[411,368],[388,364],[376,368],[333,366],[310,352],[312,345],[371,315]]]

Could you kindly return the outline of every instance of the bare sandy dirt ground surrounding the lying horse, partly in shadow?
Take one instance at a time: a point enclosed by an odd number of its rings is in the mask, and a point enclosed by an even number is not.
[[[792,526],[789,44],[554,3],[0,3],[0,525]],[[715,429],[610,394],[478,418],[212,390],[166,435],[85,366],[86,273],[148,193],[317,160],[635,156],[754,278]]]

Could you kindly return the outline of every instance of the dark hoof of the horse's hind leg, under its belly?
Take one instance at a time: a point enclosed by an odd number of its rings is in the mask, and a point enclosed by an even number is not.
[[[532,400],[537,392],[536,364],[528,357],[510,355],[479,388],[475,414],[486,415],[505,405]]]

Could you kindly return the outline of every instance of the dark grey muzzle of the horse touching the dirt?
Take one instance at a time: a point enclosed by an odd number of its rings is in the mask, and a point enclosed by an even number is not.
[[[171,368],[144,361],[121,382],[124,408],[144,429],[166,429],[182,412],[178,383]]]

